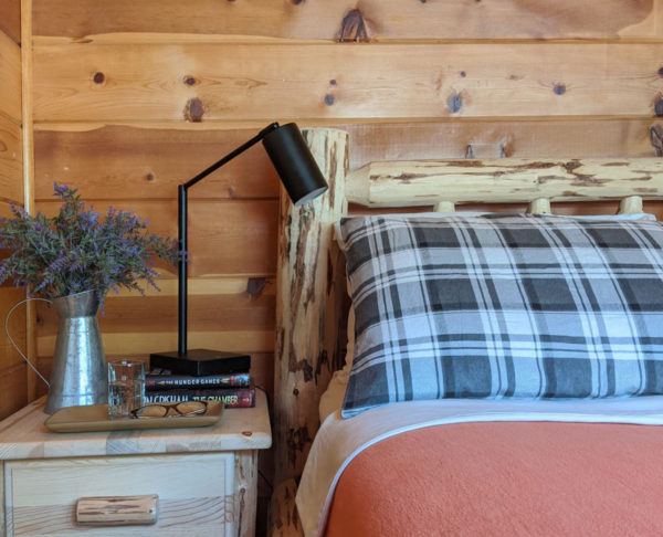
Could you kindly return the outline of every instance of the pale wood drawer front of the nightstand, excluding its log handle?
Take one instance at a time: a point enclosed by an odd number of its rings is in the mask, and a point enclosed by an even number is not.
[[[4,482],[8,537],[234,534],[232,453],[7,462]],[[159,496],[151,526],[76,522],[82,497],[150,494]]]

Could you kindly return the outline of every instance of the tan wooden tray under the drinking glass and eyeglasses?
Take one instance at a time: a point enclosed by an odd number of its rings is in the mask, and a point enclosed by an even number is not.
[[[109,420],[107,404],[87,407],[67,407],[51,415],[44,425],[53,432],[122,431],[130,429],[179,429],[187,427],[208,427],[217,423],[223,415],[221,401],[208,401],[204,414],[178,415],[172,418],[146,418]]]

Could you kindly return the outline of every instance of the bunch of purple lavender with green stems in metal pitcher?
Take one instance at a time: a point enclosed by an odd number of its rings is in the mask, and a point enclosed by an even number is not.
[[[31,217],[11,206],[13,218],[0,218],[0,248],[12,253],[0,262],[0,284],[45,298],[94,291],[103,306],[108,289],[157,287],[154,257],[177,262],[177,242],[146,231],[147,221],[133,212],[108,209],[105,217],[87,208],[66,185],[54,185],[60,213]]]

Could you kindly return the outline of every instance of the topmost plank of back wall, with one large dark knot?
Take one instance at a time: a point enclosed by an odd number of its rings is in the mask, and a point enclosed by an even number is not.
[[[290,39],[653,38],[659,0],[35,0],[36,35],[107,32]],[[362,23],[364,32],[357,28]]]

